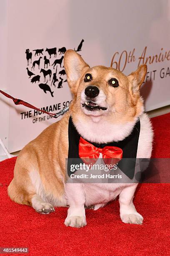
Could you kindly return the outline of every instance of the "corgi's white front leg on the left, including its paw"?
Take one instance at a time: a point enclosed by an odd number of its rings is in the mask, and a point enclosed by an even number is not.
[[[65,225],[75,228],[84,227],[87,223],[85,219],[85,192],[82,189],[82,184],[67,183],[65,194],[69,205]]]

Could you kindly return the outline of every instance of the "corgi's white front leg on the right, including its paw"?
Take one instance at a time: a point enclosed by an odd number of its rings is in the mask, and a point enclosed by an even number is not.
[[[142,224],[143,217],[135,209],[133,197],[138,184],[131,184],[122,189],[119,195],[120,218],[124,223]]]

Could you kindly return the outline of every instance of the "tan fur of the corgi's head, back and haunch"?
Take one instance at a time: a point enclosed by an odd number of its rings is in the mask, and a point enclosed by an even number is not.
[[[73,123],[106,121],[110,124],[125,124],[135,122],[135,118],[143,113],[143,100],[139,88],[145,79],[147,66],[141,65],[129,76],[111,67],[97,66],[90,68],[79,54],[68,50],[64,59],[67,81],[74,98],[70,110],[57,123],[46,128],[37,138],[28,143],[18,155],[14,178],[8,187],[8,195],[19,204],[31,205],[36,195],[35,186],[30,179],[34,170],[40,175],[40,180],[46,196],[62,200],[65,193],[65,159],[68,156],[68,120],[72,116]],[[91,82],[84,82],[86,73],[92,74]],[[119,87],[113,88],[108,80],[114,77],[119,81]],[[91,117],[82,111],[80,104],[81,92],[85,87],[95,85],[106,95],[107,113]],[[100,112],[100,111],[99,111]],[[99,141],[100,142],[100,141]]]

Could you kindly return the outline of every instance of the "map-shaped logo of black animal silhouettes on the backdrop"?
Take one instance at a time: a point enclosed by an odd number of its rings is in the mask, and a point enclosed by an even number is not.
[[[81,51],[83,42],[82,39],[77,49],[74,48],[74,50]],[[25,50],[28,79],[32,84],[37,84],[44,93],[50,93],[52,97],[54,97],[55,90],[61,89],[67,82],[63,66],[65,52],[65,47]]]

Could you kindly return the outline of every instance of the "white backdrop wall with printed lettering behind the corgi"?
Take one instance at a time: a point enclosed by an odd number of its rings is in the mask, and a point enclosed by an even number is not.
[[[170,104],[170,0],[2,0],[0,7],[3,14],[0,18],[3,33],[0,88],[14,97],[38,108],[48,107],[48,110],[54,105],[60,110],[66,102],[68,104],[72,96],[64,82],[63,62],[55,69],[52,64],[63,56],[58,52],[60,48],[77,49],[83,39],[78,53],[90,66],[112,65],[129,74],[139,64],[148,64],[141,89],[146,110]],[[50,58],[45,50],[55,47],[57,56],[52,54]],[[27,66],[26,49],[32,53],[32,64],[42,57],[40,69],[37,64],[35,69],[30,63]],[[43,51],[36,53],[33,51],[36,49]],[[44,56],[50,61],[50,66],[45,68]],[[34,74],[30,78],[27,67]],[[51,80],[49,75],[46,77],[49,87],[45,85],[41,69],[51,70]],[[54,73],[58,79],[55,86],[52,83]],[[37,75],[40,75],[40,82],[32,83],[31,79]],[[9,107],[6,100],[1,99],[0,138],[10,152],[23,148],[56,121],[24,106],[15,106],[13,102],[8,103]],[[9,117],[2,110],[9,112]]]

